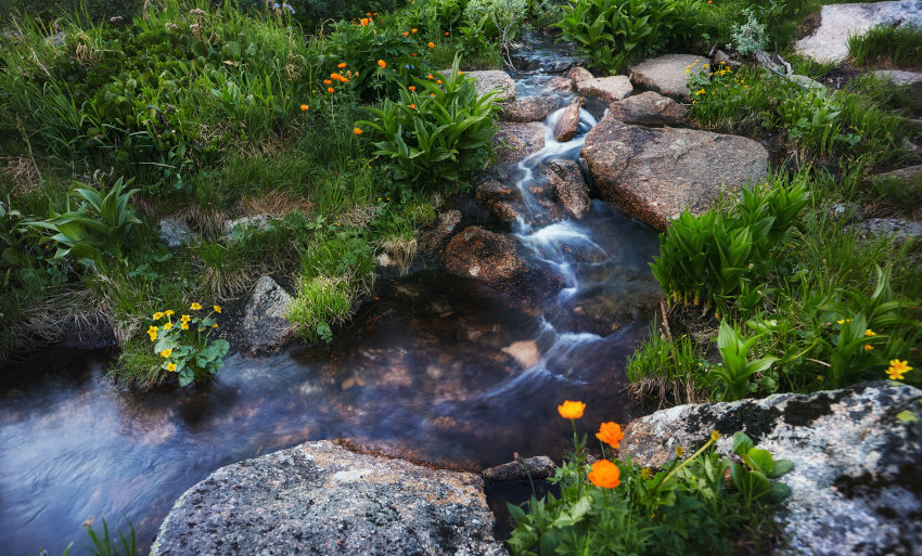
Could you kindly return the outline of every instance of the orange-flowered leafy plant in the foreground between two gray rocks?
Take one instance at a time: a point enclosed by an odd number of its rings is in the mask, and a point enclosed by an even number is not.
[[[574,426],[582,415],[578,403],[559,408]],[[507,541],[512,554],[729,554],[732,540],[764,527],[771,505],[789,494],[772,479],[791,463],[773,460],[742,432],[733,437],[738,463],[714,450],[715,430],[692,455],[682,458],[677,450],[655,473],[613,456],[624,438],[616,423],[603,423],[596,437],[602,458],[591,464],[586,437],[574,437],[574,451],[549,479],[559,497],[533,495],[522,506],[508,505],[516,523]]]

